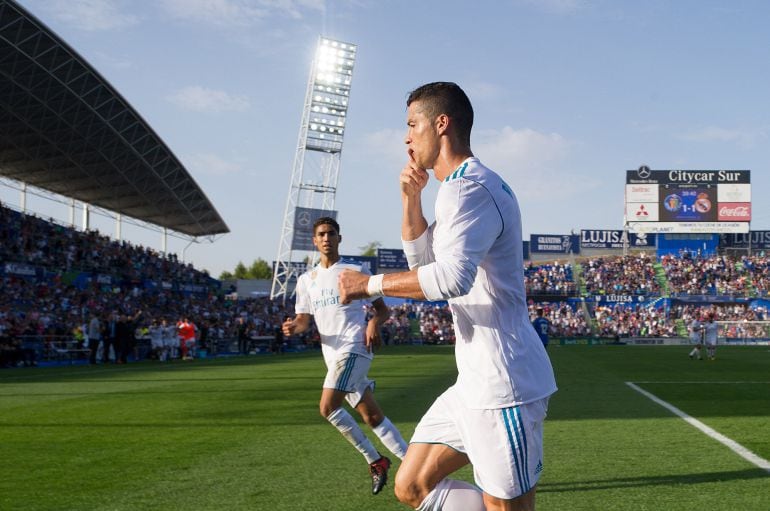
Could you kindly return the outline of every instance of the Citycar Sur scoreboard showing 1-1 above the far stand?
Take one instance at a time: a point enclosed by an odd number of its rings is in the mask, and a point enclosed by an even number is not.
[[[625,223],[636,233],[746,233],[748,170],[626,171]]]

